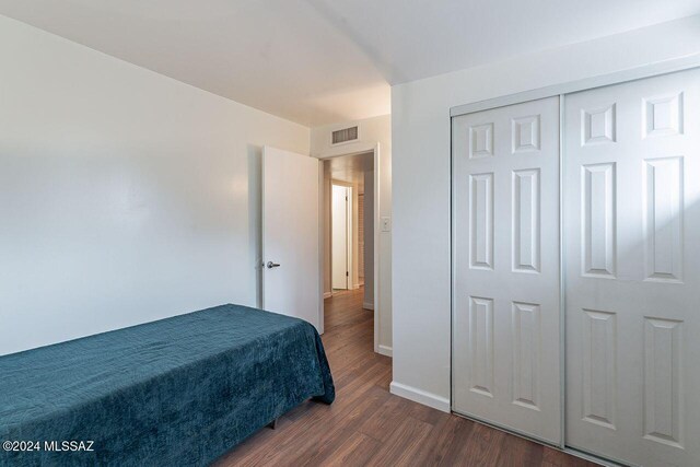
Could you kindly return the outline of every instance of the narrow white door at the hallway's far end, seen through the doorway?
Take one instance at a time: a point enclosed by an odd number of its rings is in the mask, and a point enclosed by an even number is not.
[[[348,188],[332,186],[331,200],[331,283],[336,290],[348,289]]]

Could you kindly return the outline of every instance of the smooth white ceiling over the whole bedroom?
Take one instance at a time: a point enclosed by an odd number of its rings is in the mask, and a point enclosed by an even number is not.
[[[389,85],[700,13],[698,0],[0,0],[0,14],[318,126]]]

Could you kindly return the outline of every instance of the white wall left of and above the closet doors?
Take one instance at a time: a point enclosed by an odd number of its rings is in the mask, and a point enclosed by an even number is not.
[[[450,108],[700,51],[700,16],[392,89],[394,383],[450,408]]]

